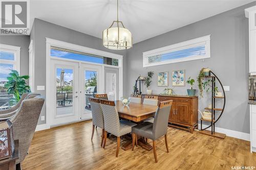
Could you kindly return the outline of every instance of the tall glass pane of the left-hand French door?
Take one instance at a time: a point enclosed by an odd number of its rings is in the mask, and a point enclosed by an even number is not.
[[[56,115],[73,114],[73,69],[56,69]]]

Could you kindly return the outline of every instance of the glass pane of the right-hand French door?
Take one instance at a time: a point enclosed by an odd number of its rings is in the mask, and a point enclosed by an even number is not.
[[[97,94],[97,71],[84,70],[84,93],[86,98],[85,111],[91,112],[91,105],[89,98],[93,98]]]

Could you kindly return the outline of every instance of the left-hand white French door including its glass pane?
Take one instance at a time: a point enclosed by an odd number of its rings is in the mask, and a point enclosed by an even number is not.
[[[79,64],[69,61],[51,62],[50,126],[79,120]]]

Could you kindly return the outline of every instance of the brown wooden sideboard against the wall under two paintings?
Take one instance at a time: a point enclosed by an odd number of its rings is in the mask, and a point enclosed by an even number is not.
[[[142,101],[146,95],[157,95],[159,102],[173,100],[169,126],[190,130],[191,133],[198,128],[198,96],[142,94]]]

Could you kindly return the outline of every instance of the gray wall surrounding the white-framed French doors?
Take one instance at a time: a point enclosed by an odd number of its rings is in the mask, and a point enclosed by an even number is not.
[[[102,46],[100,38],[96,38],[87,34],[83,34],[65,27],[55,25],[44,20],[35,19],[31,32],[31,39],[33,39],[34,55],[35,55],[35,88],[36,86],[46,86],[46,37],[60,41],[70,42],[86,47],[91,47],[97,50],[107,51],[123,55],[123,91],[126,89],[126,51],[108,50]],[[37,91],[46,95],[46,91]],[[44,106],[41,112],[46,115],[46,107]],[[45,124],[46,121],[38,120],[38,125]]]

